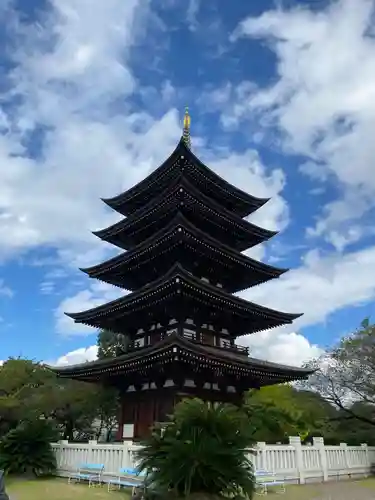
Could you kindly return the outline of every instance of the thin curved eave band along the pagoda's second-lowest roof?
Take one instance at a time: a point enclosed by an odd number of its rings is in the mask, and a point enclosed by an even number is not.
[[[290,314],[268,307],[260,306],[254,304],[253,302],[247,301],[240,297],[232,296],[219,288],[205,283],[204,281],[192,276],[190,273],[185,271],[179,264],[174,265],[168,273],[166,273],[161,278],[147,284],[141,290],[130,293],[121,297],[119,299],[113,300],[101,306],[88,309],[80,313],[65,313],[67,316],[74,319],[77,323],[89,324],[90,321],[96,320],[99,317],[107,316],[113,313],[118,313],[120,310],[129,308],[131,306],[136,309],[137,305],[142,301],[148,301],[151,296],[155,296],[156,293],[161,292],[167,287],[181,288],[187,285],[194,290],[193,293],[196,295],[211,296],[211,298],[216,299],[218,302],[227,304],[234,311],[239,314],[255,315],[257,317],[263,317],[274,323],[274,326],[280,326],[283,324],[290,324],[295,319],[302,316],[302,314]],[[262,329],[270,328],[270,326],[264,326]]]

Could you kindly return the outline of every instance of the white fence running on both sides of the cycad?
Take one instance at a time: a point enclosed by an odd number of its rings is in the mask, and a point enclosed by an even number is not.
[[[124,444],[87,444],[60,441],[54,443],[58,474],[67,476],[82,463],[104,464],[108,477],[122,467],[134,467],[138,446]],[[312,446],[301,445],[299,437],[290,437],[289,445],[258,443],[256,455],[251,455],[256,470],[274,471],[288,482],[306,483],[366,476],[375,464],[375,447],[325,446],[323,438],[314,438]]]

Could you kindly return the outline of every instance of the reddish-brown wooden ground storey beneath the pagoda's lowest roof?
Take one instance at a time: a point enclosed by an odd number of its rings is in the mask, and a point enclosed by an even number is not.
[[[243,393],[183,387],[127,392],[121,397],[117,441],[141,441],[150,435],[155,423],[167,422],[177,403],[185,398],[242,404]]]

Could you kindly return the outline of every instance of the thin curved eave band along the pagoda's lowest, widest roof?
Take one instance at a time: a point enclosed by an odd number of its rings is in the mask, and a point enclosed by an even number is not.
[[[234,366],[245,369],[255,369],[263,373],[272,373],[276,376],[287,377],[292,380],[307,378],[312,375],[315,370],[307,370],[305,368],[298,368],[294,366],[282,365],[270,361],[264,361],[251,357],[233,356],[231,353],[226,353],[223,350],[207,347],[199,344],[193,344],[187,339],[172,334],[165,339],[159,341],[150,347],[145,347],[139,351],[123,354],[116,358],[107,358],[102,360],[91,361],[88,363],[80,363],[77,365],[70,365],[67,367],[52,367],[51,369],[60,377],[75,377],[80,375],[95,375],[102,374],[103,372],[118,373],[121,368],[126,367],[129,363],[134,363],[137,360],[147,359],[150,355],[156,355],[168,347],[176,346],[185,352],[192,352],[199,355],[204,355],[209,360],[216,362],[222,360],[231,363]],[[236,359],[237,358],[237,359]]]

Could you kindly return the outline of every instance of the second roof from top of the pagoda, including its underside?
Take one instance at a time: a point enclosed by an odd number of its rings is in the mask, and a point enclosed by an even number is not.
[[[94,235],[125,250],[138,245],[152,236],[160,227],[165,226],[176,215],[176,212],[194,208],[195,218],[205,221],[207,232],[221,233],[231,239],[230,246],[237,250],[245,250],[251,246],[271,238],[277,231],[263,229],[247,220],[229,212],[198,191],[187,179],[178,178],[173,189],[167,188],[157,198],[153,198],[143,208],[129,217],[100,231]],[[197,222],[195,223],[197,225]],[[212,228],[212,226],[216,226]],[[224,238],[225,236],[223,236]],[[217,238],[221,239],[221,238]]]

